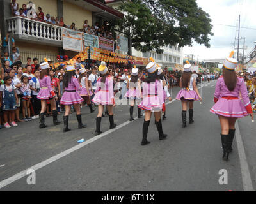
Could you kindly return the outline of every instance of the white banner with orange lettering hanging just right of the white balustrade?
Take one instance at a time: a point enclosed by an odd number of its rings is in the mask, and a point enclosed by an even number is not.
[[[62,28],[62,45],[64,50],[83,51],[83,33]]]

